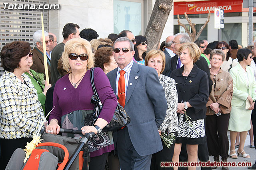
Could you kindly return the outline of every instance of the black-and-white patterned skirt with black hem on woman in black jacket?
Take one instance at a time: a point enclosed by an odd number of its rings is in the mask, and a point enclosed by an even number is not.
[[[206,142],[204,119],[184,121],[184,114],[179,114],[179,131],[176,143],[197,145]]]

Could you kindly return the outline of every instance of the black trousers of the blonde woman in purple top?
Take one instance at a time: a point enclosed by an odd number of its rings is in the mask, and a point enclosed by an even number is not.
[[[106,152],[100,156],[91,157],[91,161],[89,162],[89,169],[90,170],[105,170],[108,153],[109,152]]]

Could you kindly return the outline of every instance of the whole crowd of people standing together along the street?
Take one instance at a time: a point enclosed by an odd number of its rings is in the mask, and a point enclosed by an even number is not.
[[[229,44],[191,42],[186,33],[178,33],[167,37],[158,49],[147,51],[146,37],[134,36],[129,30],[97,39],[95,30],[79,29],[79,25],[67,23],[59,44],[56,35],[46,31],[42,42],[38,30],[33,50],[26,41],[2,48],[2,169],[14,150],[24,149],[43,123],[46,133],[55,135],[60,128],[82,130],[83,135],[94,132],[88,142],[92,170],[106,166],[111,170],[160,170],[161,162],[207,162],[209,156],[216,162],[220,162],[219,156],[222,162],[239,155],[250,158],[244,143],[249,131],[250,147],[255,148],[256,43],[238,49],[236,40]],[[45,64],[49,82],[45,81]],[[103,105],[95,121],[93,67],[94,85]],[[118,103],[130,123],[115,131],[102,131]],[[256,164],[249,168],[256,169]]]

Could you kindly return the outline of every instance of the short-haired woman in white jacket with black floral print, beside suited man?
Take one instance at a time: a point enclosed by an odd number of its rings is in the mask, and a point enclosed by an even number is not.
[[[169,148],[166,147],[163,139],[161,138],[163,150],[152,154],[150,169],[162,170],[162,167],[160,167],[160,162],[171,162],[174,152],[174,144],[178,133],[178,117],[176,113],[178,107],[178,94],[176,90],[175,80],[162,74],[165,67],[164,52],[155,49],[149,51],[149,53],[145,57],[145,65],[156,69],[160,83],[164,88],[165,97],[167,100],[168,108],[166,110],[164,122],[158,129],[159,134],[161,135],[161,133],[174,133],[175,135],[174,141],[172,141],[172,145]],[[172,169],[172,167],[165,169]]]

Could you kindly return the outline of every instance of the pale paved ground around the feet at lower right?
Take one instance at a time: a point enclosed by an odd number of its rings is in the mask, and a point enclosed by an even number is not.
[[[228,139],[229,139],[229,143],[230,143],[230,133],[228,131]],[[236,149],[237,150],[237,149]],[[238,164],[238,162],[252,162],[252,164],[255,163],[255,159],[256,159],[256,150],[250,148],[250,136],[249,134],[246,137],[246,141],[245,141],[245,145],[244,145],[244,150],[247,154],[249,154],[251,156],[251,158],[244,158],[241,155],[238,156],[237,159],[232,159],[232,158],[228,158],[228,162],[236,162],[236,164]],[[230,150],[228,151],[228,153],[230,153]],[[210,161],[213,162],[213,156],[209,156]],[[221,157],[220,157],[221,160]],[[200,170],[201,168],[197,167],[196,170]],[[218,167],[216,170],[222,170],[222,167]],[[248,170],[247,167],[229,167],[229,170]]]

